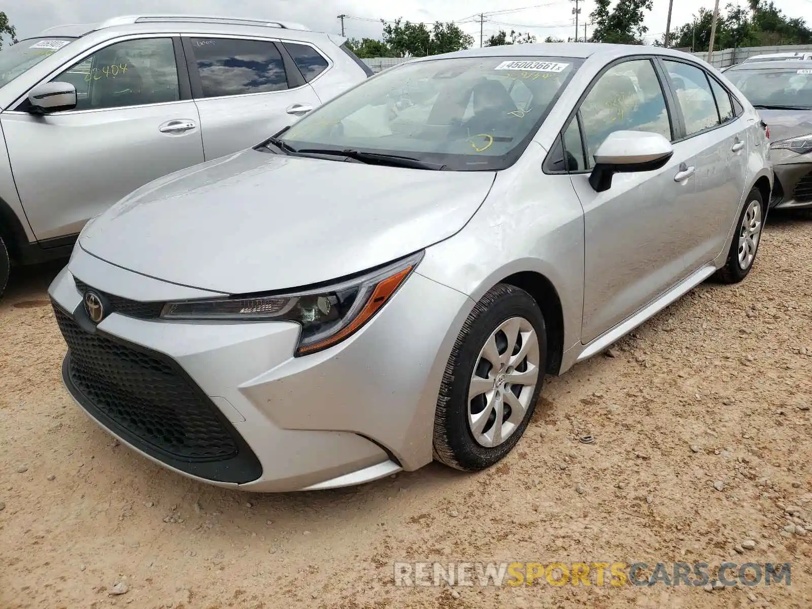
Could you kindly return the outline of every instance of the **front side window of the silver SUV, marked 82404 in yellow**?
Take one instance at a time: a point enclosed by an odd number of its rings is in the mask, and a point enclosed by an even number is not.
[[[110,45],[51,80],[69,82],[76,87],[76,110],[180,99],[171,38],[145,38]]]

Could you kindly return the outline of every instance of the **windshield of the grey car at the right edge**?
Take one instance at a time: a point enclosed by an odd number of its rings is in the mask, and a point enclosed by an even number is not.
[[[724,76],[754,106],[812,109],[812,69],[728,70]]]

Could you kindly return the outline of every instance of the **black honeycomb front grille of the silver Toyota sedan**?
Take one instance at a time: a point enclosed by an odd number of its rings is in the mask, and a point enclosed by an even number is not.
[[[68,346],[66,385],[102,425],[196,476],[250,482],[261,475],[240,434],[171,358],[84,330],[58,306],[54,312]]]

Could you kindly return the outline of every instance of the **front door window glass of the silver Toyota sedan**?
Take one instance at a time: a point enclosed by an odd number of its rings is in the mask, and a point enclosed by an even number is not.
[[[648,59],[619,63],[600,76],[581,104],[581,122],[590,165],[598,146],[615,131],[653,132],[672,140],[663,88]]]

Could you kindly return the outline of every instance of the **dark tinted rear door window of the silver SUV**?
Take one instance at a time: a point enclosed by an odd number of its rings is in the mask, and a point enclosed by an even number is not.
[[[287,89],[282,55],[270,41],[192,38],[203,97]]]

